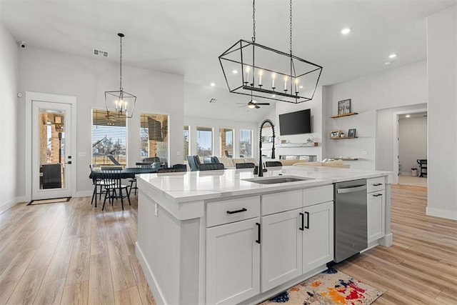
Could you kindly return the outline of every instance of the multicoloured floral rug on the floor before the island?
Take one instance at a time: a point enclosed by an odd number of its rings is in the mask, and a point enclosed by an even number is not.
[[[264,304],[371,304],[382,292],[336,269],[327,269],[293,286]]]

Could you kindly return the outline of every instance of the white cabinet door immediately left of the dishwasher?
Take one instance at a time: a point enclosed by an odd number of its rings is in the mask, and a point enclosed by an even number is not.
[[[303,208],[303,273],[333,260],[333,201]]]

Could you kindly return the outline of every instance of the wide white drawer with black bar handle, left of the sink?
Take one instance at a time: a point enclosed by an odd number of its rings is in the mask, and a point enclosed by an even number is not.
[[[214,201],[206,204],[206,227],[260,216],[260,196]]]

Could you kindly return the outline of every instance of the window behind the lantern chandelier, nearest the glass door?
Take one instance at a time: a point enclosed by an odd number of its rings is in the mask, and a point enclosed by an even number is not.
[[[127,164],[126,118],[92,109],[92,164]]]

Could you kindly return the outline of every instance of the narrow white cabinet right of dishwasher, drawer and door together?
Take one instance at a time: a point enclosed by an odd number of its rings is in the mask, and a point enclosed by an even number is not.
[[[367,225],[368,244],[384,236],[386,193],[384,178],[367,179]]]

